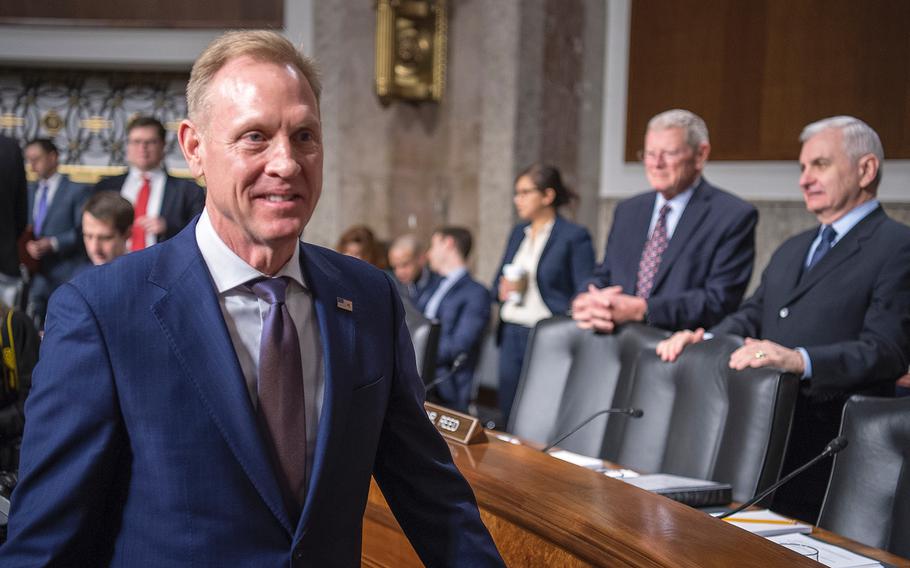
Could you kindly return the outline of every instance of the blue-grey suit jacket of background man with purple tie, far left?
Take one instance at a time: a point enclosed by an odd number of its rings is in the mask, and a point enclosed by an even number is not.
[[[71,181],[69,177],[60,176],[60,186],[54,194],[54,200],[47,208],[44,224],[41,227],[42,237],[56,237],[59,249],[46,254],[41,259],[40,274],[47,279],[49,295],[57,286],[63,284],[75,272],[76,268],[88,262],[85,245],[82,243],[82,206],[89,197],[90,188]],[[28,216],[34,225],[35,199],[38,184],[28,186]]]

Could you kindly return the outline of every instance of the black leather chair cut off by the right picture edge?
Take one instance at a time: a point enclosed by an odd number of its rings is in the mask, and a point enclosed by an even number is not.
[[[910,558],[910,398],[854,395],[818,526]]]

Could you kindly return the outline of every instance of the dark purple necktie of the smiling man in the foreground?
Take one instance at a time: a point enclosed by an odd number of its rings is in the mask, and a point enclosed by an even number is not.
[[[257,278],[247,287],[269,304],[259,344],[259,415],[283,476],[288,509],[296,517],[306,498],[306,406],[300,341],[284,303],[288,282],[287,277]]]

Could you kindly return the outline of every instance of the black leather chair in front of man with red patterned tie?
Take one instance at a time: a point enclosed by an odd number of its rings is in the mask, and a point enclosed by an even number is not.
[[[634,376],[638,354],[653,351],[666,336],[664,331],[638,324],[605,335],[579,329],[565,316],[540,322],[528,340],[509,431],[548,443],[599,410],[626,406],[627,382]],[[611,431],[619,431],[628,420],[600,416],[560,447],[602,457]]]

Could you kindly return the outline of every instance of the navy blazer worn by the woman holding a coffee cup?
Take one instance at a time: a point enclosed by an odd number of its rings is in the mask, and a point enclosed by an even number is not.
[[[506,253],[493,280],[494,301],[499,301],[502,267],[512,262],[525,238],[524,230],[527,226],[528,223],[517,225],[509,235]],[[540,262],[537,263],[536,275],[537,288],[553,315],[564,314],[569,310],[572,298],[584,289],[593,269],[594,247],[588,230],[557,215],[550,238],[540,255]]]

